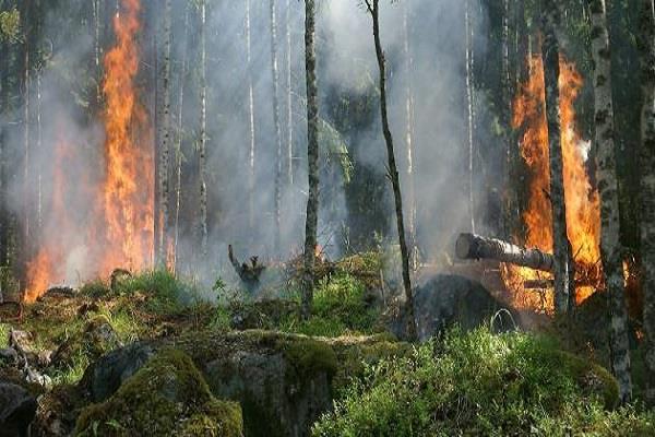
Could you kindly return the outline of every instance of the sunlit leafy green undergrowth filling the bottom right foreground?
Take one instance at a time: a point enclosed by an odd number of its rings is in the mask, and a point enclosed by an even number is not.
[[[617,392],[607,370],[549,339],[454,330],[369,366],[313,435],[655,435],[653,416],[605,411]]]

